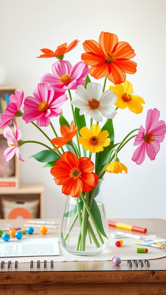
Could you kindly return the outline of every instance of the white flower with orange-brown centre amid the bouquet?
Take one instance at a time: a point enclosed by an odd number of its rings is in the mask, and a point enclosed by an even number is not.
[[[112,106],[117,101],[117,96],[112,90],[102,93],[102,86],[99,83],[88,83],[87,89],[79,85],[76,90],[76,97],[71,100],[71,104],[80,109],[79,114],[86,113],[87,119],[94,119],[102,122],[102,116],[113,119],[117,114]]]

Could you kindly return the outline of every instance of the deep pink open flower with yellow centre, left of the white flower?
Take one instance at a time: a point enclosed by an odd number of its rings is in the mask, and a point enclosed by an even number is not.
[[[33,91],[34,97],[25,98],[22,119],[26,123],[37,120],[38,126],[47,127],[50,124],[50,117],[57,117],[62,113],[58,106],[67,100],[66,94],[48,90],[47,86],[45,83],[38,84]]]

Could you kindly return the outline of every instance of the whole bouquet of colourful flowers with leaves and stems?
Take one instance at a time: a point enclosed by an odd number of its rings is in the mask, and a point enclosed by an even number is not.
[[[0,116],[0,127],[4,127],[4,137],[9,145],[4,152],[6,161],[11,160],[14,154],[24,161],[19,147],[25,143],[44,146],[44,150],[32,157],[45,162],[44,167],[51,168],[56,184],[62,186],[62,193],[74,199],[74,207],[65,213],[65,217],[73,217],[72,223],[61,241],[65,247],[74,224],[78,222],[76,251],[80,253],[86,251],[87,235],[96,249],[104,244],[104,237],[108,240],[96,196],[98,184],[105,172],[127,173],[127,167],[118,158],[119,151],[135,137],[134,145],[138,147],[132,160],[140,165],[146,154],[150,160],[154,160],[166,128],[165,122],[159,120],[160,112],[149,109],[145,128],[141,125],[129,132],[121,142],[114,142],[113,119],[118,115],[118,108],[128,107],[131,112],[139,114],[145,103],[143,98],[133,95],[133,87],[126,80],[126,73],[136,72],[136,63],[131,60],[135,56],[134,50],[127,42],[118,42],[115,34],[101,32],[98,42],[86,40],[83,43],[85,53],[81,55],[82,61],[72,66],[68,60],[64,60],[64,56],[66,58],[66,53],[73,50],[78,42],[74,40],[68,47],[64,43],[55,52],[41,49],[43,54],[38,58],[58,59],[52,65],[52,73],[46,73],[40,78],[33,96],[24,99],[23,91],[10,95],[10,104]],[[91,82],[90,76],[96,80],[104,78],[104,84]],[[105,90],[107,79],[112,85]],[[70,90],[75,91],[73,98]],[[71,122],[67,122],[60,108],[67,99],[71,102]],[[23,103],[22,113],[20,107]],[[51,122],[53,117],[58,116],[61,136],[58,136],[59,127],[57,133],[57,126]],[[22,117],[26,123],[32,123],[48,139],[49,144],[22,140],[15,121],[13,134],[8,124],[14,117]],[[53,130],[52,138],[40,128],[48,125]]]

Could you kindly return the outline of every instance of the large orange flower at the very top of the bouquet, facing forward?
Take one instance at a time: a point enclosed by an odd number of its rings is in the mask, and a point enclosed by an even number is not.
[[[101,32],[99,43],[86,40],[81,58],[90,65],[90,75],[95,79],[106,77],[114,84],[123,83],[126,73],[136,72],[136,63],[130,60],[135,56],[134,50],[127,42],[118,42],[115,34]]]

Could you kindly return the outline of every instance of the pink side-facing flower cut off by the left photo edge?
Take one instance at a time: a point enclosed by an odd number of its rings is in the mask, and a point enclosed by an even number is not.
[[[22,105],[22,101],[24,98],[24,92],[22,91],[15,91],[15,95],[11,94],[9,96],[10,103],[5,109],[5,113],[0,115],[0,127],[4,127],[5,125],[9,124],[16,114],[19,112],[19,109]],[[20,116],[22,115],[22,112],[20,111]]]

